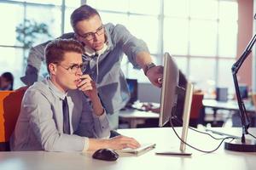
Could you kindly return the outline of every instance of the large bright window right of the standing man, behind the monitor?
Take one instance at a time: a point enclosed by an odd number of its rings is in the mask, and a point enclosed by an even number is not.
[[[169,52],[198,88],[207,91],[216,86],[233,87],[230,65],[236,60],[236,0],[114,2],[87,0],[100,11],[104,23],[123,24],[147,42],[157,64],[161,64],[163,54]],[[132,69],[125,57],[122,67],[125,76],[137,75],[139,82],[148,82],[143,71]]]

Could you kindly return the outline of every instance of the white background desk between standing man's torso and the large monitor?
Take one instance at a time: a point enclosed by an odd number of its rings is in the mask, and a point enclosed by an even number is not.
[[[119,119],[129,122],[131,128],[136,128],[138,124],[143,124],[146,119],[158,119],[159,114],[150,111],[137,111],[126,109],[119,112]]]

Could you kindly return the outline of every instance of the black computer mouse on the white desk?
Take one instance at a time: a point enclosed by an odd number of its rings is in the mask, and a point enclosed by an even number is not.
[[[116,161],[119,158],[119,155],[113,151],[108,149],[100,149],[96,150],[92,155],[94,159],[104,160],[104,161]]]

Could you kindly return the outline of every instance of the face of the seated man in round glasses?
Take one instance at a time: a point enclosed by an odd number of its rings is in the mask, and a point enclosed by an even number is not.
[[[77,85],[83,74],[79,65],[82,65],[83,61],[82,54],[76,52],[67,52],[63,58],[60,63],[52,64],[55,70],[51,71],[51,79],[57,88],[67,92],[68,89],[78,88]]]

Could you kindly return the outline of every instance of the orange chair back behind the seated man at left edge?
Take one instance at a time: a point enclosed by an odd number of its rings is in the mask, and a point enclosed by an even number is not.
[[[28,87],[0,91],[0,151],[9,150],[9,138],[15,130],[23,95]]]

